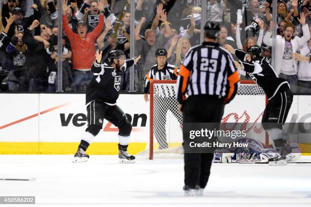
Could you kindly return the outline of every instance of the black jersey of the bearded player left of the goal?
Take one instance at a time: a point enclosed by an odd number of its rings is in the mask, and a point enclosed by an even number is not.
[[[100,101],[110,105],[116,104],[121,87],[121,76],[124,71],[134,64],[134,58],[126,60],[122,72],[115,70],[107,63],[92,64],[91,72],[94,73],[86,90],[86,104],[91,101]]]

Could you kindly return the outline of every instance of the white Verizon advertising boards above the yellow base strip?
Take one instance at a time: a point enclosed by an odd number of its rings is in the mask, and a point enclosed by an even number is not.
[[[0,99],[0,142],[79,142],[87,127],[85,95],[0,94]],[[149,103],[143,95],[120,95],[117,104],[133,125],[131,142],[147,142]],[[237,96],[226,106],[224,117],[227,122],[256,123],[264,108],[264,96]],[[299,122],[292,128],[305,133],[300,138],[311,143],[311,96],[294,97],[286,122]],[[105,120],[94,142],[118,142],[117,131]]]

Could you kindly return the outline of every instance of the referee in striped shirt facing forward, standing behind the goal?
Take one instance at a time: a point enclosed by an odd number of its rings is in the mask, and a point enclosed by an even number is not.
[[[166,62],[167,51],[165,49],[157,49],[157,51],[155,51],[155,56],[157,57],[157,64],[151,67],[144,80],[144,100],[146,102],[149,101],[148,92],[151,81],[177,79],[178,68]],[[173,99],[170,99],[170,102],[173,103],[168,104],[167,98],[170,97],[173,97]],[[175,88],[172,86],[158,85],[154,90],[154,99],[158,99],[160,103],[164,103],[161,105],[161,109],[154,110],[153,113],[154,136],[159,142],[159,149],[163,150],[168,148],[165,129],[167,111],[170,110],[173,113],[180,127],[182,126],[182,117],[178,113],[178,102],[175,100]]]

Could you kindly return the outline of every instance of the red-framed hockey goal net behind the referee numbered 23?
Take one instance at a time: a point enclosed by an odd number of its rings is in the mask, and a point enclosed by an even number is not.
[[[150,137],[146,147],[149,159],[180,157],[176,154],[181,153],[182,115],[178,113],[175,86],[174,80],[150,83]],[[260,124],[266,103],[259,85],[252,80],[241,81],[236,97],[225,106],[222,122],[249,123],[247,130],[257,133],[257,137],[261,133],[262,143],[267,144],[267,135]]]

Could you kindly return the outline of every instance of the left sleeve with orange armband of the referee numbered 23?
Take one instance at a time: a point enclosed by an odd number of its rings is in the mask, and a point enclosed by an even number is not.
[[[189,83],[190,70],[184,65],[181,65],[177,76],[176,83],[176,96],[178,103],[183,103],[185,101],[185,92]]]

